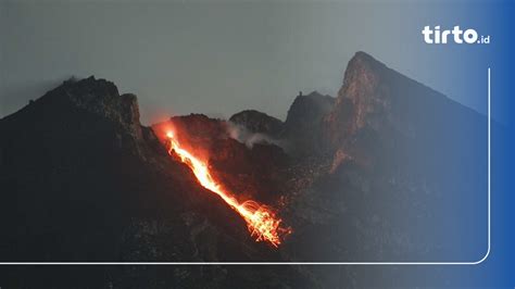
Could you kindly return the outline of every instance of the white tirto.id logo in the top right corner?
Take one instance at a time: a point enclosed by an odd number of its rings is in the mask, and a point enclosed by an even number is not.
[[[475,29],[462,30],[460,26],[454,26],[452,30],[441,30],[440,26],[435,26],[432,29],[429,26],[425,26],[422,34],[424,35],[424,41],[428,45],[445,45],[448,41],[454,41],[457,45],[490,43],[490,35],[479,36]]]

